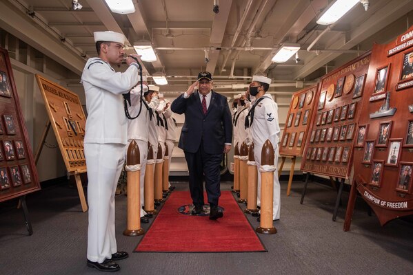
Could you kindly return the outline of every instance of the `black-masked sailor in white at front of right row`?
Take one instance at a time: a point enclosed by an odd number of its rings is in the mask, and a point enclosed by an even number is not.
[[[278,120],[278,107],[270,94],[265,94],[271,84],[271,78],[253,76],[250,84],[250,94],[255,97],[254,104],[245,119],[245,126],[250,127],[252,142],[254,142],[254,158],[258,169],[257,205],[261,206],[261,150],[266,140],[274,146],[274,166],[277,167],[279,157],[280,126]],[[272,204],[272,219],[280,218],[281,192],[277,170],[274,170],[274,200]]]

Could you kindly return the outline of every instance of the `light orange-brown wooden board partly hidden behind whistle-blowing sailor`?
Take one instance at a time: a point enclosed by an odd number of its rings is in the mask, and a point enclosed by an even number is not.
[[[79,96],[38,74],[36,78],[66,169],[68,172],[84,173],[86,117]]]

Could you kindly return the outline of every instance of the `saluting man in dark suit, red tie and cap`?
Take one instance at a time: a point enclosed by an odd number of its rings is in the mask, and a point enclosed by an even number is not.
[[[197,92],[194,92],[198,87]],[[218,207],[220,190],[219,166],[223,153],[228,153],[232,142],[231,113],[227,98],[212,91],[212,76],[201,72],[198,80],[172,102],[174,113],[185,114],[179,148],[185,153],[190,173],[190,192],[194,208],[192,214],[203,212],[203,180],[210,203],[210,219],[223,217]]]

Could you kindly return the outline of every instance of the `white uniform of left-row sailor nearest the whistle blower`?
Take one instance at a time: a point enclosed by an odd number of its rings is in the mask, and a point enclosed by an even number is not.
[[[143,92],[148,89],[146,85],[143,85]],[[143,98],[145,100],[145,98]],[[138,85],[134,87],[131,92],[131,106],[128,107],[128,111],[130,116],[134,118],[138,113],[139,109],[141,108],[141,86]],[[142,104],[141,114],[135,118],[134,120],[128,120],[128,146],[132,140],[137,142],[139,146],[139,157],[140,157],[140,164],[141,164],[141,205],[143,206],[145,203],[145,193],[143,190],[144,182],[145,182],[145,169],[146,163],[148,162],[148,140],[149,140],[149,120],[150,115],[148,109],[146,109],[145,104]],[[152,118],[155,120],[155,118]],[[128,153],[128,146],[125,148],[125,155]],[[146,212],[140,208],[141,217],[143,217]]]

